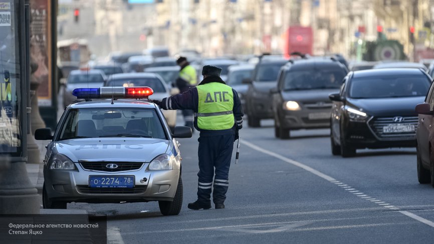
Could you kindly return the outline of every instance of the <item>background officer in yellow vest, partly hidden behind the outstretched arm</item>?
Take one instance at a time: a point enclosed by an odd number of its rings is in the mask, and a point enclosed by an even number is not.
[[[197,84],[196,70],[187,62],[185,57],[179,57],[179,59],[176,60],[176,64],[181,67],[179,77],[176,79],[176,86],[179,92],[183,93]],[[193,111],[188,109],[182,110],[182,115],[184,117],[185,126],[190,127],[194,132]]]

